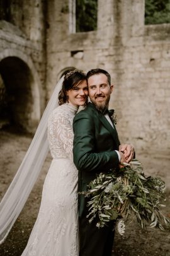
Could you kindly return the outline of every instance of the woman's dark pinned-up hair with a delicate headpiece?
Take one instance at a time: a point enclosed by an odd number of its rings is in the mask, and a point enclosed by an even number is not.
[[[59,92],[59,105],[67,102],[67,91],[71,90],[75,85],[80,84],[86,79],[86,73],[79,69],[71,69],[64,75],[62,89]]]

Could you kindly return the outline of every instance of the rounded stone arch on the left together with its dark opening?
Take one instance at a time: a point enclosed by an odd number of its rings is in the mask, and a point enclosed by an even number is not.
[[[34,132],[40,120],[40,79],[31,58],[20,50],[0,52],[11,124]]]

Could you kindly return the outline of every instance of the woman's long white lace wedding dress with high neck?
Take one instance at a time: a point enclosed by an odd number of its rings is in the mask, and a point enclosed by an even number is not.
[[[52,163],[45,178],[37,221],[22,254],[78,256],[77,169],[73,163],[72,120],[77,108],[66,103],[48,119]]]

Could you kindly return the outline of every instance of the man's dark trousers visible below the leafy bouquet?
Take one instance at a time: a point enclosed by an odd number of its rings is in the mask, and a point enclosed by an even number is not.
[[[89,223],[87,214],[79,217],[79,256],[111,256],[115,235],[115,221],[97,228],[97,221]]]

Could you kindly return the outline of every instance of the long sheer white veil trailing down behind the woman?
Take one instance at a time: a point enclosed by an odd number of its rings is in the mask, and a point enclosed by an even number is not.
[[[49,151],[47,122],[50,113],[58,105],[57,98],[62,88],[62,81],[63,78],[55,86],[25,158],[0,203],[0,244],[5,240],[23,209],[47,157]]]

